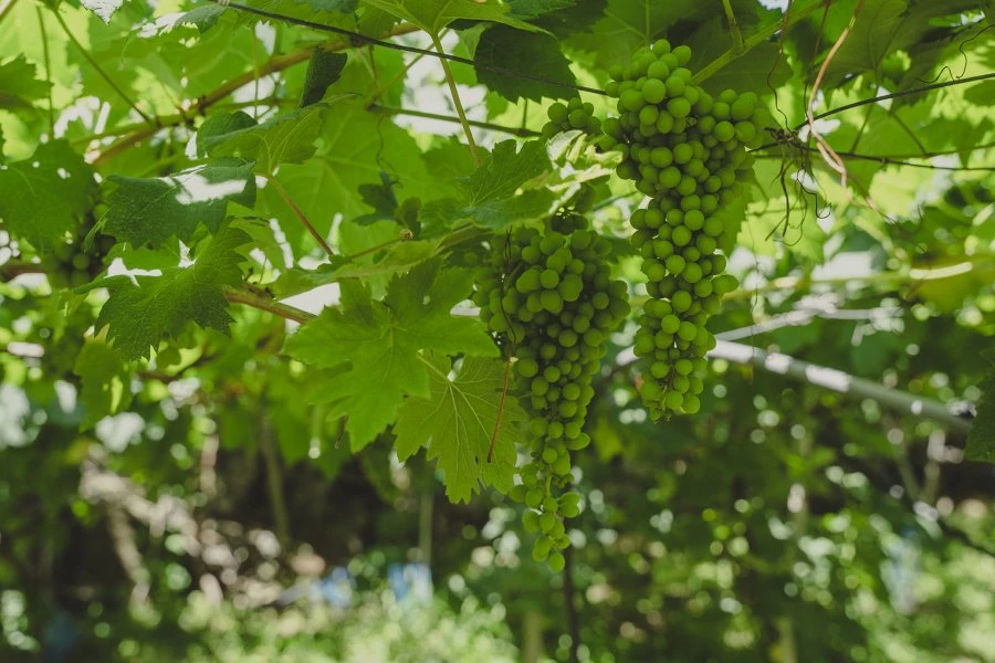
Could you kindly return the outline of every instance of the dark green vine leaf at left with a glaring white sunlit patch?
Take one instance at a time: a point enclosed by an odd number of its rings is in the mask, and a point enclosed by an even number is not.
[[[138,246],[158,246],[171,236],[187,241],[202,223],[218,232],[229,201],[255,204],[252,162],[219,158],[167,177],[112,176],[104,231]]]

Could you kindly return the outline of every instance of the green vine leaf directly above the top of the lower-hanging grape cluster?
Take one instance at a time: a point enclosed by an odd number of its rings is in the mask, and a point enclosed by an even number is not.
[[[421,219],[443,229],[468,220],[501,230],[513,222],[545,215],[556,196],[547,187],[526,188],[551,171],[549,157],[542,143],[533,140],[515,151],[515,141],[494,146],[473,175],[455,181],[459,198],[425,206]],[[537,182],[538,183],[538,182]],[[525,190],[519,191],[521,188]]]

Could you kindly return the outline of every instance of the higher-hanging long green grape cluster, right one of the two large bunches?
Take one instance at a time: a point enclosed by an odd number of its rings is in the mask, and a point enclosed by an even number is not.
[[[688,46],[659,40],[610,70],[619,116],[598,139],[621,151],[619,177],[651,199],[631,217],[631,242],[649,281],[636,355],[649,364],[641,393],[653,419],[701,407],[698,376],[715,347],[705,322],[737,286],[719,253],[734,231],[718,212],[739,194],[752,167],[746,148],[758,146],[766,118],[753,93],[713,97],[693,85],[690,60]]]

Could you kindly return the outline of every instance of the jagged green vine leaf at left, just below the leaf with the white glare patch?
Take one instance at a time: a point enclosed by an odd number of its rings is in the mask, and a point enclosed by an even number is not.
[[[189,265],[165,269],[160,276],[111,276],[90,284],[83,292],[106,287],[111,293],[96,328],[107,326],[107,338],[126,361],[148,357],[190,320],[227,334],[232,318],[223,288],[241,282],[244,257],[237,250],[249,241],[245,232],[226,227],[201,244]]]

